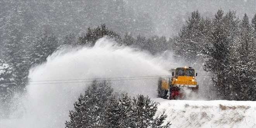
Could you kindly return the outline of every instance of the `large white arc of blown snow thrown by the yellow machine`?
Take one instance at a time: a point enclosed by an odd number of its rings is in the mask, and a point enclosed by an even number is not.
[[[92,81],[91,78],[116,80],[111,81],[114,92],[156,97],[159,77],[142,76],[170,75],[167,70],[172,68],[170,61],[168,66],[161,60],[106,37],[99,39],[94,47],[62,48],[29,71],[29,81],[35,82],[28,85],[26,114],[19,127],[63,128],[74,101],[90,84],[83,81]]]

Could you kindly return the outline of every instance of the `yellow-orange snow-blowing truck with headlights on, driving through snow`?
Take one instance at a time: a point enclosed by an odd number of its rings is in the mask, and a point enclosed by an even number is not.
[[[160,78],[158,81],[158,97],[163,99],[182,99],[184,89],[189,88],[198,92],[198,85],[195,79],[197,73],[192,67],[177,67],[171,69],[172,78]]]

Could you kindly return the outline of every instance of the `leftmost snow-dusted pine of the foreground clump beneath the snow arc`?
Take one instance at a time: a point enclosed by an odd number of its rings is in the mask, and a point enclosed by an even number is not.
[[[66,128],[99,128],[103,121],[104,107],[113,89],[107,81],[93,81],[92,86],[80,95],[69,111]]]

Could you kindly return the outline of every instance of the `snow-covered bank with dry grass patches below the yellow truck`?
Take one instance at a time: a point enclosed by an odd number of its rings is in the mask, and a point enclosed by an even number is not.
[[[227,100],[164,100],[159,102],[157,115],[165,111],[172,128],[255,128],[255,101]],[[156,115],[156,116],[157,116]]]

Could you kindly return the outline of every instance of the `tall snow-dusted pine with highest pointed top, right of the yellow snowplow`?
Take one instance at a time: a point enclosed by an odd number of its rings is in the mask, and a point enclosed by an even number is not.
[[[218,89],[218,93],[223,97],[225,92],[224,82],[225,74],[222,71],[225,70],[225,64],[228,60],[226,59],[229,51],[228,51],[228,43],[226,36],[223,35],[222,26],[223,20],[223,10],[218,10],[217,14],[215,14],[215,19],[213,24],[215,25],[214,31],[212,33],[212,37],[210,40],[210,44],[207,47],[208,51],[208,61],[206,61],[205,69],[206,71],[211,71],[212,73],[216,73],[217,76],[213,78],[214,86]],[[221,80],[222,78],[222,80]]]

